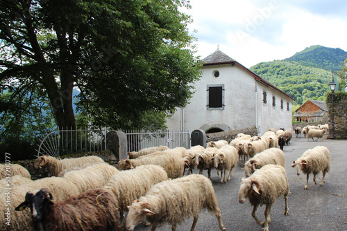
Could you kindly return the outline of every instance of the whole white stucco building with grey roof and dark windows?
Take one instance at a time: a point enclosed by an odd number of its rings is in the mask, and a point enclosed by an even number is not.
[[[185,108],[167,120],[169,129],[206,133],[257,127],[291,129],[294,98],[217,49],[203,59],[201,80]]]

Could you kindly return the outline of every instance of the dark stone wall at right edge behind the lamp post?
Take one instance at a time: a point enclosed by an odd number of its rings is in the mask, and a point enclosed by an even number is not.
[[[327,95],[327,106],[329,109],[328,124],[332,125],[332,94]],[[335,139],[347,139],[347,93],[334,93],[334,124]],[[330,136],[328,136],[330,138]]]

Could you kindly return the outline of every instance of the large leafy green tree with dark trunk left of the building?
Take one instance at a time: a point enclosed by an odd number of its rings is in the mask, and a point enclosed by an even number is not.
[[[77,86],[79,108],[94,124],[142,126],[192,96],[199,66],[191,19],[179,10],[188,3],[1,0],[1,89],[17,101],[39,89],[58,126],[75,127]]]

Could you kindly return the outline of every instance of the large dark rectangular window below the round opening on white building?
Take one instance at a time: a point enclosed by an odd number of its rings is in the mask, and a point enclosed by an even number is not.
[[[208,110],[224,109],[224,84],[210,84],[207,88]]]

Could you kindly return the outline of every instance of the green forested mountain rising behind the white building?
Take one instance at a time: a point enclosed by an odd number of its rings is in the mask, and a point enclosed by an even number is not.
[[[325,101],[332,69],[340,71],[347,53],[339,48],[311,46],[284,60],[262,62],[251,71],[302,104],[307,99]]]

